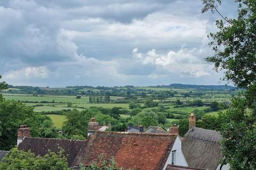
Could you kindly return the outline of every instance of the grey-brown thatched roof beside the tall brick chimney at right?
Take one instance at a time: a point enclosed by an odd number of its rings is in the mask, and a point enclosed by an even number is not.
[[[222,157],[220,140],[216,131],[192,127],[182,141],[188,166],[215,170]]]

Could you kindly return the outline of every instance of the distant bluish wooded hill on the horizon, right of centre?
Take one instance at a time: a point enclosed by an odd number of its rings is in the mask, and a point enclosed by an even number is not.
[[[195,84],[170,84],[170,85],[162,85],[162,86],[150,86],[157,88],[177,88],[177,89],[200,89],[200,90],[235,90],[237,87],[235,86],[223,86],[223,85],[195,85]]]

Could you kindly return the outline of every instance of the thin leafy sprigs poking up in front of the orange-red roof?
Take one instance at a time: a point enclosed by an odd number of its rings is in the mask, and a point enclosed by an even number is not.
[[[80,165],[80,170],[121,170],[116,166],[115,158],[112,157],[110,160],[106,159],[104,154],[100,155],[100,161],[94,161],[89,166]]]

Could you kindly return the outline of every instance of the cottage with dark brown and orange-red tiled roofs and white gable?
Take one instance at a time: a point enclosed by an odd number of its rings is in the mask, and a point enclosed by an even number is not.
[[[18,129],[18,149],[31,150],[36,155],[45,155],[50,149],[65,150],[68,166],[80,163],[89,165],[105,154],[107,159],[115,158],[123,169],[166,169],[167,165],[188,166],[181,150],[178,134],[102,132],[94,130],[87,140],[66,140],[30,137],[29,128]]]

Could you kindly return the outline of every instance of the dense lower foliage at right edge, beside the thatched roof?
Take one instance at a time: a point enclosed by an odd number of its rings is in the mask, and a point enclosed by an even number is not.
[[[221,120],[223,163],[231,169],[256,169],[256,85],[233,99]]]

